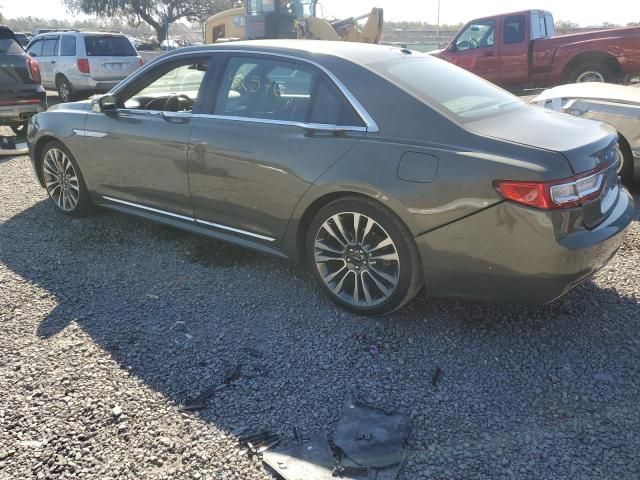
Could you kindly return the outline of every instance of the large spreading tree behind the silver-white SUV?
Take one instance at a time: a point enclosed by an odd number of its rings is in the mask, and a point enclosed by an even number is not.
[[[146,23],[158,42],[167,38],[169,25],[180,19],[202,22],[204,16],[229,8],[230,0],[64,0],[75,12],[126,19],[130,25]],[[229,6],[228,6],[229,5]]]

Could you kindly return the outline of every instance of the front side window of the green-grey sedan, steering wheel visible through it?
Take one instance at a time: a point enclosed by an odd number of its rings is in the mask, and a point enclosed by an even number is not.
[[[208,59],[189,59],[148,72],[148,80],[120,100],[124,108],[191,112],[207,72]]]

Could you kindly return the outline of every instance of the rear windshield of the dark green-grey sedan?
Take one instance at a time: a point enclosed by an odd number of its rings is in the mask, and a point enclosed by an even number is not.
[[[437,58],[416,56],[369,66],[425,104],[453,115],[458,121],[525,107],[515,95]]]

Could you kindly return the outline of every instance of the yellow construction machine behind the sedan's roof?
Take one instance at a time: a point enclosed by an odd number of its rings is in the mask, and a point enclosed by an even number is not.
[[[207,20],[205,43],[262,38],[380,42],[384,24],[381,8],[358,17],[325,20],[316,16],[317,3],[318,0],[247,0],[243,6]]]

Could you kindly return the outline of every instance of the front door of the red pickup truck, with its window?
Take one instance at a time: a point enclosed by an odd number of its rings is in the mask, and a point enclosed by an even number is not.
[[[490,82],[498,82],[500,58],[497,39],[494,19],[475,21],[458,35],[442,58]]]

